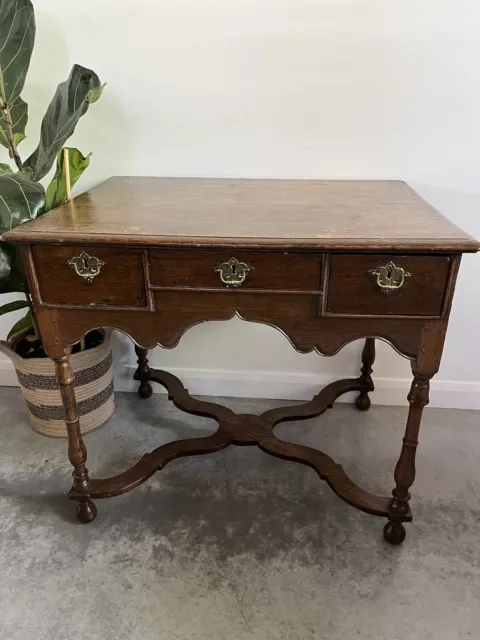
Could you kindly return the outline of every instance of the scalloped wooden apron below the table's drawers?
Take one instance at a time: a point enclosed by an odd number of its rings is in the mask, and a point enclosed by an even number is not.
[[[320,316],[318,297],[313,295],[225,291],[205,296],[195,292],[158,291],[154,297],[154,313],[101,307],[38,308],[42,339],[49,355],[56,353],[59,342],[74,344],[96,327],[118,329],[145,349],[157,344],[172,348],[196,324],[207,319],[229,320],[238,315],[249,322],[276,327],[300,353],[317,350],[331,356],[348,342],[376,336],[407,358],[414,358],[427,322],[418,318],[388,318],[387,322],[379,318]]]

